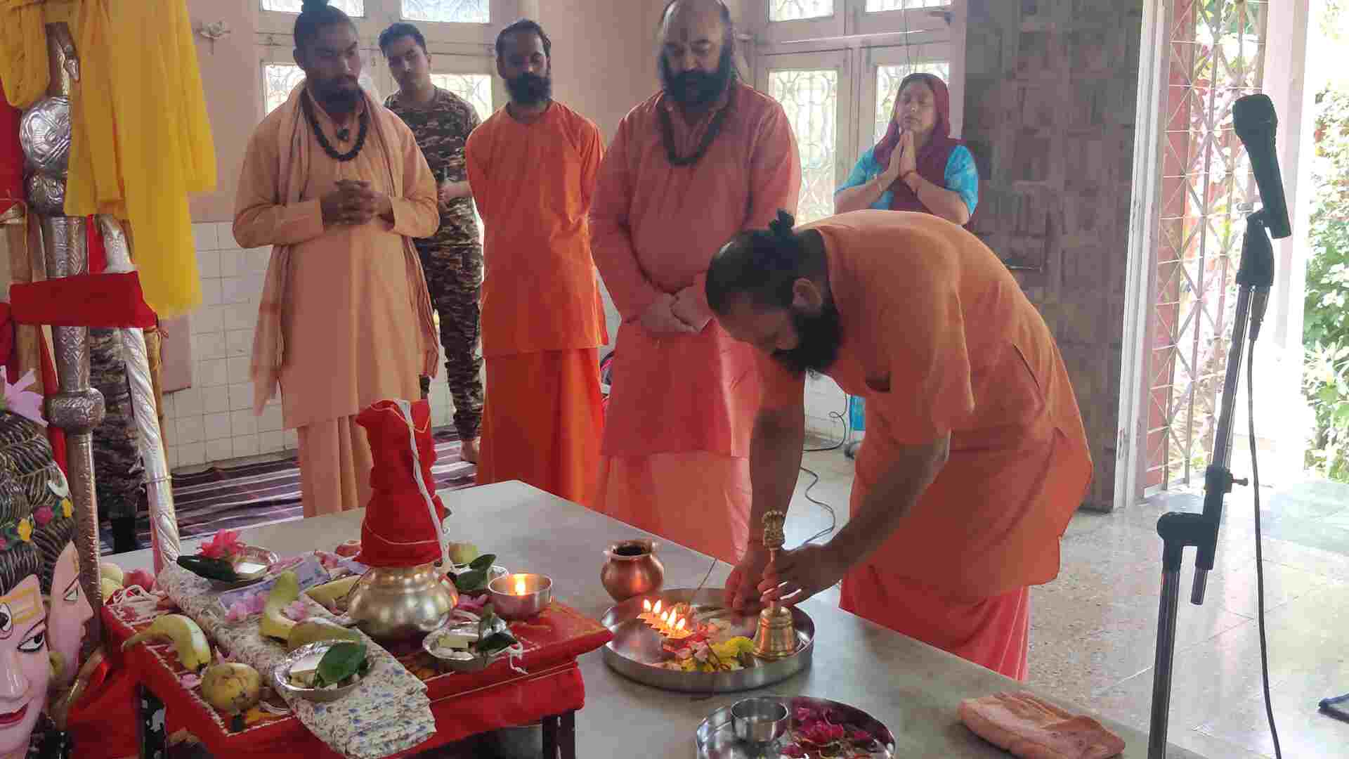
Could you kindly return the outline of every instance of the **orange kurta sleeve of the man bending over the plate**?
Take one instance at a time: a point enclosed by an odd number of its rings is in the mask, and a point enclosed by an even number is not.
[[[881,293],[876,325],[889,377],[866,378],[866,401],[896,443],[916,446],[951,432],[974,411],[959,267],[938,253],[890,261],[894,286]]]

